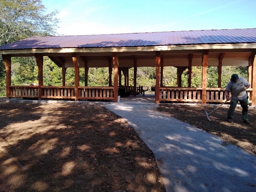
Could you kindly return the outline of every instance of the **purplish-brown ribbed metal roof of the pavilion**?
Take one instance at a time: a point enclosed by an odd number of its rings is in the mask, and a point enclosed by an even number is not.
[[[0,50],[256,43],[256,28],[29,37]]]

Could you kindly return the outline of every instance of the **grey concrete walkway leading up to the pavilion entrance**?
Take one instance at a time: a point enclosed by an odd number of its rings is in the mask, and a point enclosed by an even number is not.
[[[256,192],[256,156],[157,112],[154,102],[137,95],[105,107],[126,119],[152,150],[167,192]]]

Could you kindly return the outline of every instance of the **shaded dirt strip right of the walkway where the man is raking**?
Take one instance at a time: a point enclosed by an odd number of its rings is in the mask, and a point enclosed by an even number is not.
[[[223,105],[212,114],[208,120],[207,113],[212,112],[217,106],[209,104],[160,104],[158,110],[180,121],[186,122],[201,130],[226,141],[225,144],[234,144],[256,155],[256,107],[249,107],[249,121],[251,125],[243,123],[242,108],[237,106],[233,116],[233,123],[226,121],[229,105]]]

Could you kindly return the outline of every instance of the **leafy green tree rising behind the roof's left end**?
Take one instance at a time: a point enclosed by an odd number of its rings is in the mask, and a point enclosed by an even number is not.
[[[59,20],[55,15],[58,11],[49,14],[45,11],[41,0],[0,0],[0,45],[30,36],[57,35]],[[24,63],[17,59],[15,62]],[[30,66],[28,68],[31,69]],[[5,83],[5,66],[0,56],[0,87],[4,88]]]

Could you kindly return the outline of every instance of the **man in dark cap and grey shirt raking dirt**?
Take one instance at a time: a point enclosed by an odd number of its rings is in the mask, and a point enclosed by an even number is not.
[[[230,81],[228,82],[226,88],[225,88],[225,96],[226,100],[229,101],[229,91],[231,92],[231,101],[229,110],[227,112],[227,121],[233,122],[233,114],[234,110],[236,108],[236,105],[238,102],[240,102],[242,110],[242,116],[243,116],[243,122],[246,124],[251,124],[249,122],[248,117],[248,96],[245,90],[247,90],[250,87],[250,83],[243,77],[238,77],[238,74],[233,74],[231,76]],[[236,95],[234,95],[236,94]]]

